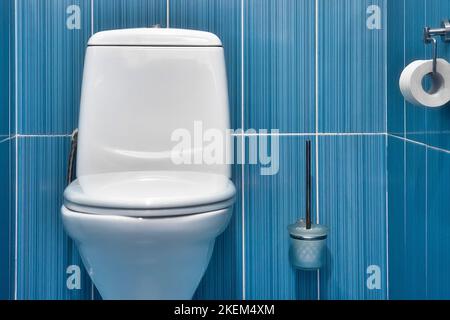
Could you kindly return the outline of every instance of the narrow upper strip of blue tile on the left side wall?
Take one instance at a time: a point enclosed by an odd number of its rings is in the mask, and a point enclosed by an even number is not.
[[[9,135],[9,80],[10,80],[10,33],[13,24],[12,1],[0,3],[0,140]]]

